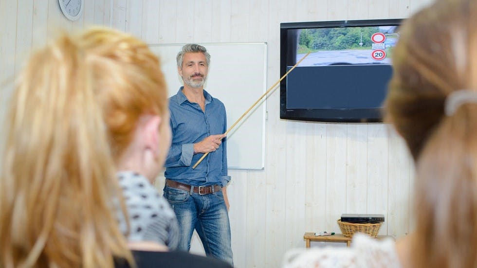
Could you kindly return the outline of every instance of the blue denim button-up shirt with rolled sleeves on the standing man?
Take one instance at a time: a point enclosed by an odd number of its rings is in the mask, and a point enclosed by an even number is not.
[[[202,186],[219,184],[227,186],[227,142],[222,139],[219,148],[210,152],[195,168],[192,166],[204,155],[194,155],[194,143],[210,135],[227,131],[225,107],[218,99],[204,90],[205,111],[197,103],[191,103],[179,89],[169,98],[172,145],[165,161],[165,178],[182,183]]]

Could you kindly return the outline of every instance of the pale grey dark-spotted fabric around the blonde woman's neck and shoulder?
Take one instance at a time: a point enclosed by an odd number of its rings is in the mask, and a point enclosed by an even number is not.
[[[167,200],[144,176],[122,171],[117,174],[123,189],[129,214],[128,241],[158,242],[173,250],[179,243],[179,225]],[[118,206],[117,206],[118,207]],[[121,209],[116,213],[121,232],[127,234],[127,225]]]

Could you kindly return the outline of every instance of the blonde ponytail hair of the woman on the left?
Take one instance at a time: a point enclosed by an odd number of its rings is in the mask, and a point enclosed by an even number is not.
[[[32,56],[6,124],[1,267],[134,263],[116,219],[125,206],[114,165],[139,117],[165,114],[166,96],[157,57],[117,31],[63,35]]]

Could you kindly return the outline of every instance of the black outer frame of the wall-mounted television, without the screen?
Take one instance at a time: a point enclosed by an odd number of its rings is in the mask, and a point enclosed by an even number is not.
[[[280,77],[287,70],[288,36],[292,29],[366,27],[401,25],[403,19],[335,20],[280,23]],[[293,72],[293,71],[292,71]],[[291,72],[291,73],[292,73]],[[288,77],[287,77],[288,78]],[[333,123],[382,123],[383,108],[287,108],[287,78],[280,82],[280,119],[333,122]]]

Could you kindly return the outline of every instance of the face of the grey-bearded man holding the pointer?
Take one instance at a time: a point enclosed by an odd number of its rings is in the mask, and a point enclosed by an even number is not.
[[[184,84],[192,88],[202,88],[207,78],[207,61],[201,52],[186,53],[183,56],[182,68],[178,68]]]

